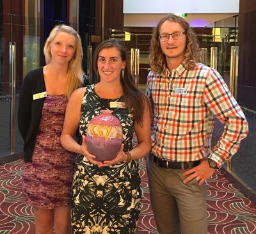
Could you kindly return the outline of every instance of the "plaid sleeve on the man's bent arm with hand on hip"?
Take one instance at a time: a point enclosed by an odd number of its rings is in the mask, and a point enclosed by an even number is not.
[[[239,149],[241,140],[248,134],[248,122],[227,84],[214,69],[207,75],[204,102],[224,124],[223,134],[209,155],[209,159],[216,161],[220,167]]]

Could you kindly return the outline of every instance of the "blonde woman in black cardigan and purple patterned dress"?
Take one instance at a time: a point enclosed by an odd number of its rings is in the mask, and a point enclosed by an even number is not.
[[[81,38],[72,27],[56,26],[44,55],[46,65],[29,72],[20,90],[23,192],[33,206],[36,234],[69,234],[75,155],[62,148],[60,135],[68,98],[83,84]]]

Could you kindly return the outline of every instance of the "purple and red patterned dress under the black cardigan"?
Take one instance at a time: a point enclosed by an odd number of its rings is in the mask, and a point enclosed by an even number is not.
[[[47,95],[32,162],[24,163],[23,194],[33,207],[53,209],[71,203],[76,154],[60,144],[67,97]]]

